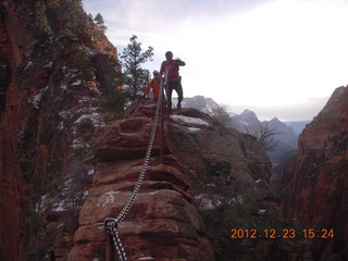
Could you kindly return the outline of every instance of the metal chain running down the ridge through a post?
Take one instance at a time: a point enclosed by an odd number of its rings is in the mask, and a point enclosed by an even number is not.
[[[158,125],[158,120],[159,120],[159,114],[160,114],[160,108],[161,108],[161,104],[162,104],[163,80],[164,79],[161,78],[160,97],[159,97],[159,99],[157,101],[152,129],[151,129],[148,147],[147,147],[147,150],[146,150],[146,154],[145,154],[144,163],[142,163],[142,166],[141,166],[141,170],[140,170],[140,173],[139,173],[138,181],[137,181],[137,183],[136,183],[136,185],[135,185],[135,187],[134,187],[134,189],[132,191],[132,195],[130,195],[127,203],[123,207],[123,209],[122,209],[121,213],[117,215],[117,217],[116,219],[108,217],[104,221],[104,227],[105,227],[105,229],[108,229],[110,232],[110,234],[112,236],[113,244],[115,246],[115,249],[116,249],[116,251],[119,253],[119,258],[120,258],[121,261],[127,261],[128,259],[126,257],[124,248],[122,247],[122,243],[121,243],[121,239],[120,239],[117,227],[119,227],[119,224],[124,220],[124,217],[126,216],[126,214],[130,210],[132,204],[133,204],[134,200],[136,199],[139,190],[140,190],[140,187],[141,187],[141,184],[144,182],[144,177],[145,177],[146,171],[147,171],[148,165],[149,165],[149,160],[150,160],[151,150],[152,150],[152,147],[153,147],[153,141],[154,141],[154,137],[156,137],[156,130],[157,130],[157,125]]]

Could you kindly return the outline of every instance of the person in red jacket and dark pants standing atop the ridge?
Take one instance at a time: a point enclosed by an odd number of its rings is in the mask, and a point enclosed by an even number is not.
[[[167,74],[166,97],[169,111],[172,111],[172,92],[175,89],[177,94],[177,109],[182,109],[183,87],[182,77],[178,74],[179,66],[185,66],[186,63],[181,59],[173,60],[173,53],[171,51],[165,52],[165,61],[161,64],[160,75]]]

